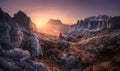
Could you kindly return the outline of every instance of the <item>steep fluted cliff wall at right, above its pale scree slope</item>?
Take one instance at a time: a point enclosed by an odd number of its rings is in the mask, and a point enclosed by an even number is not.
[[[76,24],[71,26],[71,31],[73,30],[102,30],[107,28],[107,22],[110,17],[107,15],[92,16],[85,18],[84,20],[77,21]]]

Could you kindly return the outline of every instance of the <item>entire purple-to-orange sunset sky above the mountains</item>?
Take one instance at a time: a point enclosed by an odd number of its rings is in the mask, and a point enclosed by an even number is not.
[[[39,25],[49,19],[74,24],[89,16],[120,15],[120,0],[0,0],[0,8],[11,16],[22,10]]]

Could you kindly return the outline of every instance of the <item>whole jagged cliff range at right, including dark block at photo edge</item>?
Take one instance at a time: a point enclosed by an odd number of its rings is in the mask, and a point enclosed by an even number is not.
[[[107,15],[92,16],[84,20],[77,21],[70,27],[69,36],[84,36],[90,35],[91,32],[101,31],[104,29],[119,28],[119,16],[110,17]]]

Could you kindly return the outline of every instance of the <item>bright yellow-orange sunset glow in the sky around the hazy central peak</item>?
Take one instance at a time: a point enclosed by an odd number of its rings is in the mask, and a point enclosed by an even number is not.
[[[44,27],[49,19],[57,19],[61,20],[63,24],[74,24],[77,20],[69,17],[69,15],[65,14],[62,11],[56,9],[48,9],[46,11],[33,11],[29,13],[32,21],[36,24],[37,27]]]

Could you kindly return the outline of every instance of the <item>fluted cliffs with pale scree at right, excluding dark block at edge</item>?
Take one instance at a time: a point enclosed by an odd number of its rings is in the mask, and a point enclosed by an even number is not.
[[[77,24],[71,26],[69,35],[88,35],[89,32],[95,32],[106,29],[107,23],[111,17],[107,15],[92,16],[84,20],[77,21]]]

